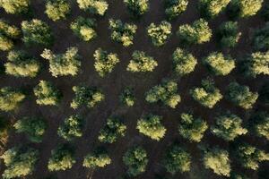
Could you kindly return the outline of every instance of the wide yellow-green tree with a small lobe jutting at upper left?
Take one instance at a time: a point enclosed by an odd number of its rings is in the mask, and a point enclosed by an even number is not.
[[[77,47],[69,47],[65,54],[53,54],[49,49],[44,49],[41,56],[49,62],[49,72],[54,77],[72,75],[75,76],[79,72],[81,66],[80,55],[78,55]]]

